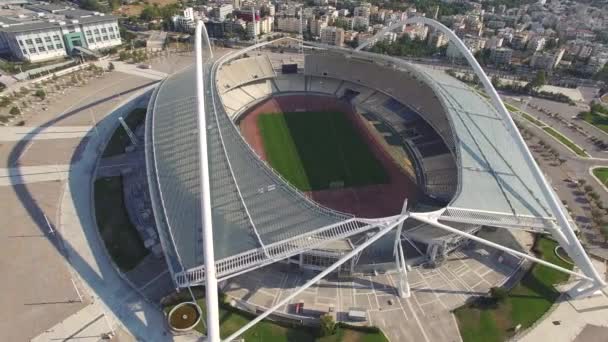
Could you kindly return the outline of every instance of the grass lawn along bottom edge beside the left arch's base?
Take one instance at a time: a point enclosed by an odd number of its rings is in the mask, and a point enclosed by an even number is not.
[[[204,316],[205,299],[199,299],[197,300],[197,303],[203,310]],[[174,306],[175,305],[166,306],[164,308],[165,313],[169,313]],[[250,320],[251,316],[249,314],[242,314],[238,310],[227,310],[220,305],[221,337],[226,338],[230,336],[247,324]],[[201,319],[201,322],[195,327],[195,329],[202,334],[206,333],[203,319]],[[381,332],[367,333],[348,328],[338,328],[336,334],[324,338],[316,337],[316,333],[317,331],[312,328],[287,328],[265,320],[253,326],[251,329],[245,332],[242,337],[245,339],[245,342],[388,342],[384,334]]]

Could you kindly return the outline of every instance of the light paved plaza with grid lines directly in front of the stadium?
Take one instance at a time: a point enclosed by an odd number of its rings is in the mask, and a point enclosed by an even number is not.
[[[441,267],[413,268],[408,273],[412,290],[408,299],[397,296],[397,274],[330,276],[279,311],[293,314],[294,304],[302,302],[305,316],[333,311],[348,322],[348,310],[360,308],[368,312],[369,323],[380,327],[391,341],[460,341],[451,310],[472,296],[485,295],[516,271],[498,263],[495,255],[475,247],[453,253]],[[270,308],[313,276],[313,272],[275,265],[231,279],[223,289],[250,306]]]

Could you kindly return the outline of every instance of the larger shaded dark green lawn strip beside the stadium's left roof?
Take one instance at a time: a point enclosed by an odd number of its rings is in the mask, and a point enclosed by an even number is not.
[[[95,215],[99,233],[112,260],[123,271],[133,269],[148,254],[123,202],[122,177],[95,181]]]

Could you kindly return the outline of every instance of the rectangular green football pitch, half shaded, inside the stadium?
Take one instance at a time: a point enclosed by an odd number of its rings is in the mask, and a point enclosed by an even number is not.
[[[344,113],[262,114],[258,127],[270,165],[302,191],[388,182]]]

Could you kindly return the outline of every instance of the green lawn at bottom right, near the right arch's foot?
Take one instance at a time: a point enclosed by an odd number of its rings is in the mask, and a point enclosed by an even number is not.
[[[555,255],[555,241],[542,237],[536,246],[543,260],[572,269],[572,265]],[[480,300],[456,309],[454,314],[463,341],[504,341],[513,335],[512,329],[518,324],[522,329],[530,327],[559,297],[553,285],[567,279],[567,274],[536,264],[509,292],[504,302]]]

